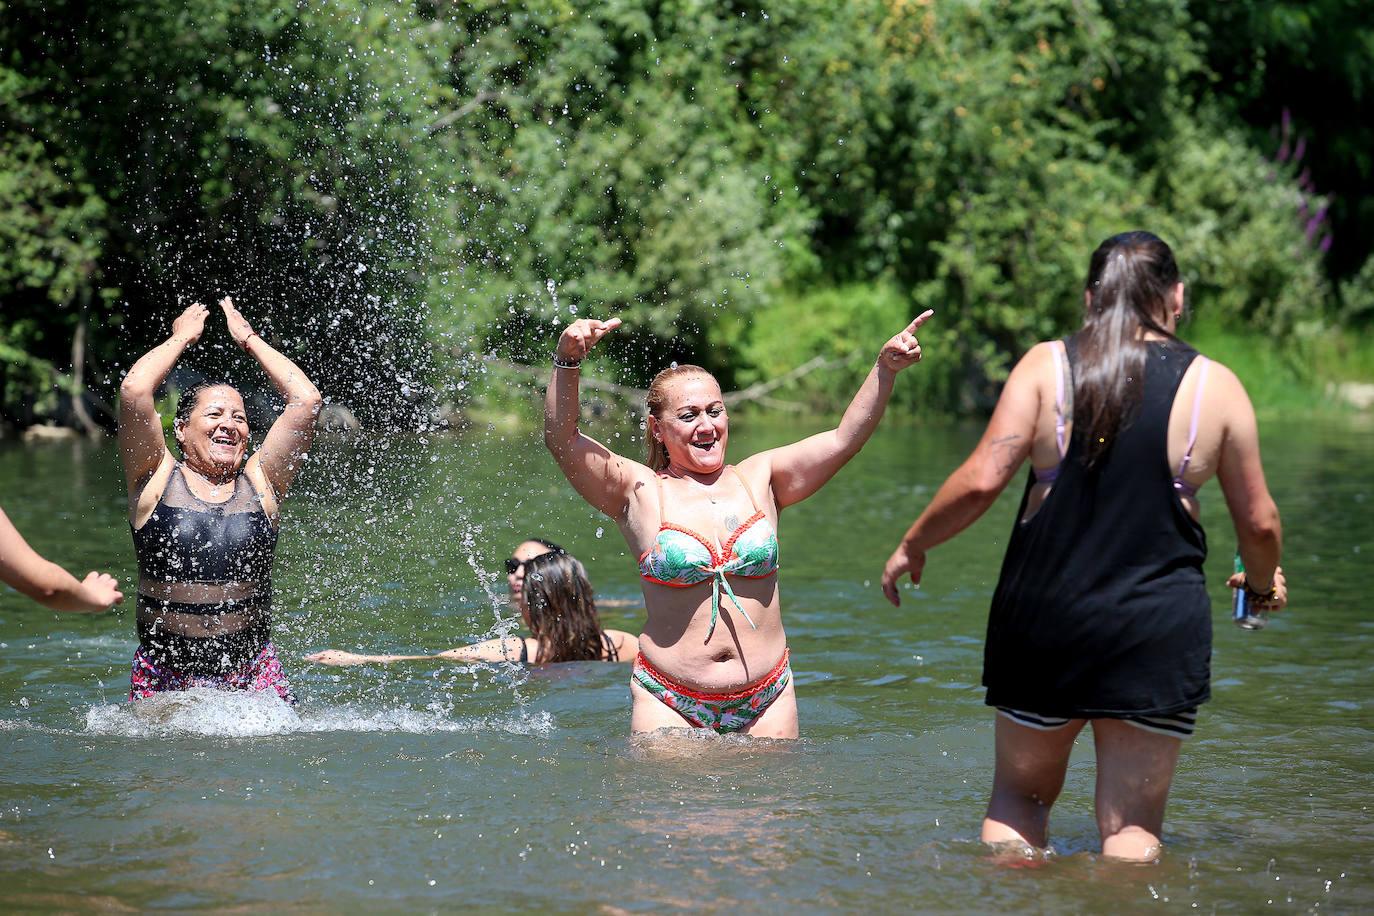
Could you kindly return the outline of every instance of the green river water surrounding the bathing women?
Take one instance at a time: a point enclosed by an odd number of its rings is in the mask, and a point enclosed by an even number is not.
[[[736,417],[742,457],[813,424]],[[1020,496],[930,555],[901,610],[888,552],[978,427],[892,417],[782,519],[798,742],[627,736],[628,666],[327,669],[319,648],[441,650],[510,632],[526,534],[588,566],[636,629],[633,558],[536,433],[323,442],[289,500],[276,644],[301,703],[125,702],[132,599],[59,615],[0,586],[0,909],[477,913],[1374,911],[1374,423],[1264,428],[1292,610],[1228,622],[1234,534],[1204,490],[1213,699],[1150,867],[1094,850],[1092,747],[1057,854],[977,842],[992,775],[978,687]],[[638,453],[631,434],[613,444]],[[111,445],[0,446],[0,504],[44,555],[136,577]]]

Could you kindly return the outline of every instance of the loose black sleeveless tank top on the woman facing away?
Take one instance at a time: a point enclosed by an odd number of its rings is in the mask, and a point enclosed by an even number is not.
[[[1074,341],[1066,341],[1076,367]],[[1209,696],[1206,538],[1173,489],[1169,409],[1197,352],[1147,342],[1145,389],[1094,468],[1085,423],[1054,489],[1017,525],[992,596],[982,683],[991,706],[1070,718],[1162,715]]]

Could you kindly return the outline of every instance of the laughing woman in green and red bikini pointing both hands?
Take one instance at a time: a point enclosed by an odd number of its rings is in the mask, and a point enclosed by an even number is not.
[[[882,346],[840,427],[725,464],[720,385],[694,365],[649,389],[649,463],[577,428],[578,364],[620,319],[563,331],[544,444],[573,488],[620,526],[639,558],[644,607],[631,674],[631,729],[710,728],[797,736],[797,699],[778,599],[778,514],[822,488],[868,441],[897,372],[921,358],[921,314]]]

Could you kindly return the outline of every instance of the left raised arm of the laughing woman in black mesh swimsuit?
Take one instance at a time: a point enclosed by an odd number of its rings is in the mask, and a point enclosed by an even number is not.
[[[170,455],[154,396],[185,349],[201,339],[209,313],[199,302],[187,306],[172,321],[172,336],[139,357],[120,385],[120,452],[131,500]]]

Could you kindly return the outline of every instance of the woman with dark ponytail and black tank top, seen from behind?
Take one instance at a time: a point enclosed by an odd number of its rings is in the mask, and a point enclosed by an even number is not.
[[[984,842],[1046,846],[1069,751],[1091,722],[1102,851],[1157,856],[1182,737],[1209,695],[1197,488],[1210,477],[1252,577],[1231,584],[1274,608],[1286,603],[1254,412],[1226,367],[1173,336],[1183,304],[1162,240],[1103,242],[1083,328],[1017,364],[973,456],[883,571],[899,604],[901,577],[919,582],[926,551],[971,525],[1030,460],[984,652],[987,703],[998,709]]]

